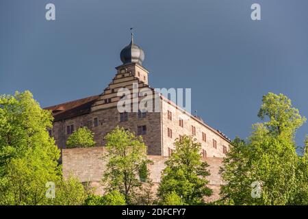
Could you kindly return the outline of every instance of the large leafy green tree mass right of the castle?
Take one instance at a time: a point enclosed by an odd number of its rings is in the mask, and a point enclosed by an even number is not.
[[[298,190],[298,155],[294,136],[305,123],[290,99],[268,93],[247,142],[233,141],[220,172],[227,182],[222,200],[235,205],[286,205]],[[255,187],[259,185],[259,188]]]

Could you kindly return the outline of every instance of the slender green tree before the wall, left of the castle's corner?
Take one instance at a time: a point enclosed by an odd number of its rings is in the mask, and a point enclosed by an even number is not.
[[[105,136],[105,140],[107,154],[104,158],[108,163],[103,183],[107,190],[119,191],[125,196],[126,203],[131,204],[142,189],[138,176],[140,168],[144,168],[144,163],[150,163],[146,158],[146,145],[141,136],[137,138],[123,127],[116,127]]]

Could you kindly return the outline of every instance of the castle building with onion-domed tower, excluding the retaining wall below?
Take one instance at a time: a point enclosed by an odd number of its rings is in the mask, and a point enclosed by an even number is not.
[[[116,75],[102,94],[44,108],[52,111],[54,122],[49,133],[61,150],[66,148],[68,136],[79,127],[92,130],[97,146],[104,146],[104,136],[118,125],[142,136],[148,155],[169,156],[175,139],[185,134],[201,143],[203,157],[224,157],[230,146],[229,138],[149,86],[149,71],[142,66],[144,51],[133,42],[133,34],[129,45],[120,52],[120,60],[123,64],[116,67]],[[138,93],[144,88],[152,90],[153,100],[158,96],[155,105],[159,105],[159,112],[149,108],[118,111],[118,101],[123,99],[118,96],[120,89],[133,91],[135,87]],[[131,99],[136,97],[133,95],[136,94],[131,94]],[[138,103],[145,98],[137,95]]]

